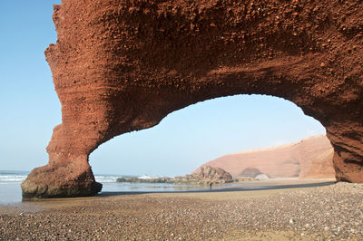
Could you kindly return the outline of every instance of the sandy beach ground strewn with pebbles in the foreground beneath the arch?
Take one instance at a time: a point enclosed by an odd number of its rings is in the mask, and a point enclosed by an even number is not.
[[[260,195],[256,195],[260,192]],[[0,207],[0,240],[363,240],[363,185],[147,194]]]

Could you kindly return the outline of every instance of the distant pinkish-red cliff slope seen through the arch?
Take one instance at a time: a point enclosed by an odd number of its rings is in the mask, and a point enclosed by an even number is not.
[[[280,147],[225,155],[202,166],[219,167],[232,176],[253,168],[271,178],[334,178],[333,154],[330,141],[320,135]]]

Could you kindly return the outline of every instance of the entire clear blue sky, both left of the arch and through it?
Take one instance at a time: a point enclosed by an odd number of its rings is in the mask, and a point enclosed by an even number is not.
[[[4,1],[0,8],[0,169],[43,166],[61,106],[44,50],[56,42],[53,5]],[[96,149],[95,173],[183,175],[203,162],[323,134],[319,121],[276,97],[240,95],[175,111],[161,124],[127,133]]]

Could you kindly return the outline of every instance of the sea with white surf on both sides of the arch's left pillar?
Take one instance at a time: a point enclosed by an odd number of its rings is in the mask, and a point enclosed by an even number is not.
[[[20,184],[25,180],[28,171],[0,170],[0,205],[12,205],[22,202]],[[175,192],[201,189],[200,186],[171,183],[127,183],[116,182],[117,178],[128,178],[127,175],[94,174],[97,182],[103,184],[102,194],[138,193],[138,192]],[[133,176],[137,177],[137,176]],[[144,175],[137,178],[156,178]]]

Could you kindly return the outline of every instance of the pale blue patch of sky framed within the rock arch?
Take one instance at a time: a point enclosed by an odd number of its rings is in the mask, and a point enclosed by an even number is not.
[[[151,129],[115,137],[95,149],[89,161],[98,174],[182,176],[226,154],[325,132],[290,101],[236,95],[188,106]]]

